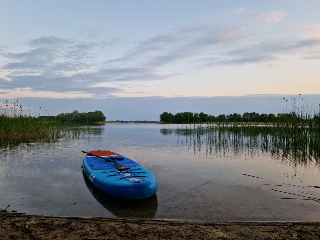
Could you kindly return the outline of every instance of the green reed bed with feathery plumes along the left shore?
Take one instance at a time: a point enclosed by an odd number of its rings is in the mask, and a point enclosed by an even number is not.
[[[72,137],[87,131],[88,126],[39,118],[40,108],[34,116],[25,113],[18,101],[5,101],[0,105],[0,139],[43,139]]]

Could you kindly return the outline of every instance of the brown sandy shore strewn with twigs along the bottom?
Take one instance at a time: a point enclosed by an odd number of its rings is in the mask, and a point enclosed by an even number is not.
[[[0,239],[320,239],[320,222],[191,222],[0,212]]]

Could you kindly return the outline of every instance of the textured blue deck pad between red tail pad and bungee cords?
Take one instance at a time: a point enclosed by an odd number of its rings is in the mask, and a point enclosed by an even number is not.
[[[118,164],[122,164],[128,167],[137,167],[140,164],[132,161],[130,158],[127,158],[122,155],[117,155],[114,157],[123,157],[124,160],[116,160]],[[107,158],[107,157],[106,157]],[[105,161],[99,157],[87,156],[87,163],[92,170],[105,170],[105,169],[116,169],[115,164],[112,162]]]

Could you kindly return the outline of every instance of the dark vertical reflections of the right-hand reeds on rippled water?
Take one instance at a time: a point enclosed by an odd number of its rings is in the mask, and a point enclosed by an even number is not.
[[[320,144],[318,141],[304,141],[297,143],[292,136],[280,136],[277,132],[268,133],[264,127],[182,127],[172,129],[162,128],[162,135],[177,135],[178,144],[185,144],[194,150],[205,150],[206,153],[224,152],[232,149],[234,153],[241,151],[252,152],[262,151],[270,153],[272,156],[281,156],[300,162],[316,160],[320,165]],[[267,127],[270,129],[271,127]]]

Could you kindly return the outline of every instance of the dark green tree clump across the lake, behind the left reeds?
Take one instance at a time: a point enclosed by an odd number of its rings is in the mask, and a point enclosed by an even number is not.
[[[39,118],[73,123],[95,123],[106,121],[106,117],[101,111],[79,113],[77,110],[74,110],[72,113],[60,113],[57,116],[39,116]]]

